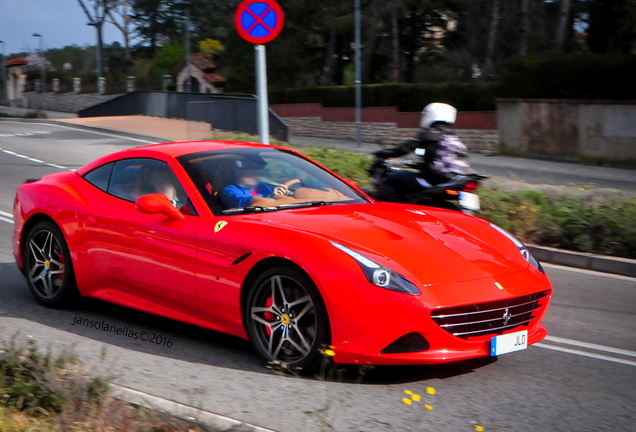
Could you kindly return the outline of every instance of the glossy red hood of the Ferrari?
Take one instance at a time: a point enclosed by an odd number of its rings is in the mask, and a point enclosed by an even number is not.
[[[478,231],[476,224],[479,229],[487,225],[455,212],[447,218],[455,222],[449,223],[445,215],[449,212],[375,203],[273,212],[267,214],[267,223],[342,243],[424,285],[493,277],[527,268],[525,261],[497,250],[485,235],[474,234]],[[458,217],[462,222],[457,222]],[[344,254],[335,248],[334,253]]]

